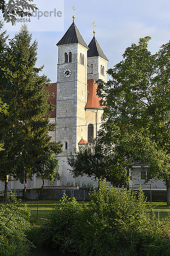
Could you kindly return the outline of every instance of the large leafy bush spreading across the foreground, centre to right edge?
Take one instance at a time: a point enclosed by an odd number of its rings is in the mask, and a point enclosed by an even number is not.
[[[51,244],[81,256],[168,256],[170,220],[150,218],[144,195],[99,180],[88,207],[66,196],[47,224]]]

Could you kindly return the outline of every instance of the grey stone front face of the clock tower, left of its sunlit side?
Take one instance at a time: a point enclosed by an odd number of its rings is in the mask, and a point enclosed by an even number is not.
[[[68,150],[76,147],[77,125],[77,44],[59,46],[57,70],[57,128],[56,141],[61,141],[63,148],[68,143]],[[64,63],[64,53],[72,52],[72,62]],[[71,69],[71,76],[65,78],[63,71]],[[73,126],[73,127],[70,127]],[[63,152],[61,155],[64,155]]]

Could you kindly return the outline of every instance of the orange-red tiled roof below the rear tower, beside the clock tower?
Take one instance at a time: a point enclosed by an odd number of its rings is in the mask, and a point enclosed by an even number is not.
[[[85,108],[103,108],[99,105],[100,98],[96,95],[97,84],[94,79],[88,79],[88,102]]]

